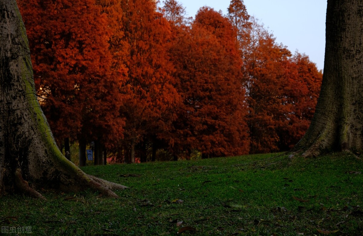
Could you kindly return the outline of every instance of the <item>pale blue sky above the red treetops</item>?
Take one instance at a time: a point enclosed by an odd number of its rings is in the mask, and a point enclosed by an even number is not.
[[[160,0],[162,2],[162,0]],[[230,0],[177,0],[188,16],[208,6],[227,14]],[[247,12],[269,29],[293,54],[305,53],[324,69],[326,0],[244,0]]]

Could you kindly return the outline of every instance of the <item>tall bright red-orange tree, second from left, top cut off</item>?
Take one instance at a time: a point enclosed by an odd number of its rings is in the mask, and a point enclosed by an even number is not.
[[[135,145],[168,129],[175,119],[179,96],[167,54],[170,25],[150,0],[123,0],[123,26],[127,52],[126,94],[121,116],[126,118],[126,149],[135,161]],[[128,158],[128,157],[127,157]]]

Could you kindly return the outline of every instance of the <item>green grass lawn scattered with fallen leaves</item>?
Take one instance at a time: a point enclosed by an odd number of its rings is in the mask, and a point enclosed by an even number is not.
[[[196,231],[183,235],[363,235],[362,169],[362,160],[342,153],[87,166],[86,173],[129,189],[117,191],[118,199],[5,196],[0,226],[31,226],[33,235],[178,235],[186,226]]]

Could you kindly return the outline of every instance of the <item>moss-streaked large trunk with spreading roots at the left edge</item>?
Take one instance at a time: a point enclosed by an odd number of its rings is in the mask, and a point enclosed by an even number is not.
[[[0,193],[35,189],[117,197],[114,184],[82,172],[58,149],[36,97],[25,27],[15,0],[0,0]]]

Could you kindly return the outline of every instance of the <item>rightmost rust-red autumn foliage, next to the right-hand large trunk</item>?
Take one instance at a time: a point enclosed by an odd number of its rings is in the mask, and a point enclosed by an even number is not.
[[[252,23],[244,53],[251,152],[286,150],[309,126],[321,73],[308,58],[293,58],[262,25]]]

